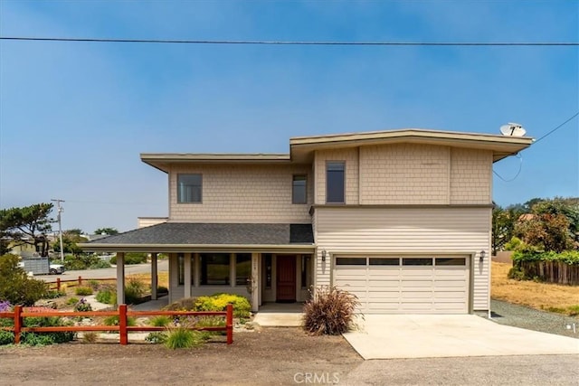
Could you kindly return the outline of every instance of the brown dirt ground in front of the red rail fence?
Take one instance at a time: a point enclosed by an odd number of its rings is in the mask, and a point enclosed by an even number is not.
[[[294,377],[303,380],[301,373],[307,372],[342,377],[361,362],[341,336],[264,328],[235,334],[231,346],[209,343],[190,350],[80,342],[4,347],[0,380],[3,385],[275,385],[295,384]]]

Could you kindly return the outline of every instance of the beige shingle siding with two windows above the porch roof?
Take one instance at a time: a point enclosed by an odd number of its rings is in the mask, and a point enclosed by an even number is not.
[[[203,202],[177,203],[177,174],[203,174]],[[308,175],[308,203],[291,203],[293,174]],[[309,165],[183,165],[169,174],[170,221],[295,222],[310,220]]]

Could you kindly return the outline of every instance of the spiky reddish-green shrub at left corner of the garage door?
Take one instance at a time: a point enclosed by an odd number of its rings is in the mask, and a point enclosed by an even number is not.
[[[344,334],[354,324],[356,306],[360,306],[356,295],[337,287],[318,287],[304,305],[303,327],[309,334]]]

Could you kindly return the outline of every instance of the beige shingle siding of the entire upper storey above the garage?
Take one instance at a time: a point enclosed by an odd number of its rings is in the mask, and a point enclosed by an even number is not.
[[[492,153],[421,144],[317,151],[316,203],[326,203],[326,162],[346,162],[347,204],[488,204]]]

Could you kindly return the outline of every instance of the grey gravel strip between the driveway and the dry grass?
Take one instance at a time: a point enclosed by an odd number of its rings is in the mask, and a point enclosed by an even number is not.
[[[526,306],[517,306],[500,300],[491,300],[492,320],[501,325],[512,325],[542,333],[579,338],[579,317],[558,315]],[[575,325],[575,332],[573,331]],[[567,325],[571,328],[568,329]]]

